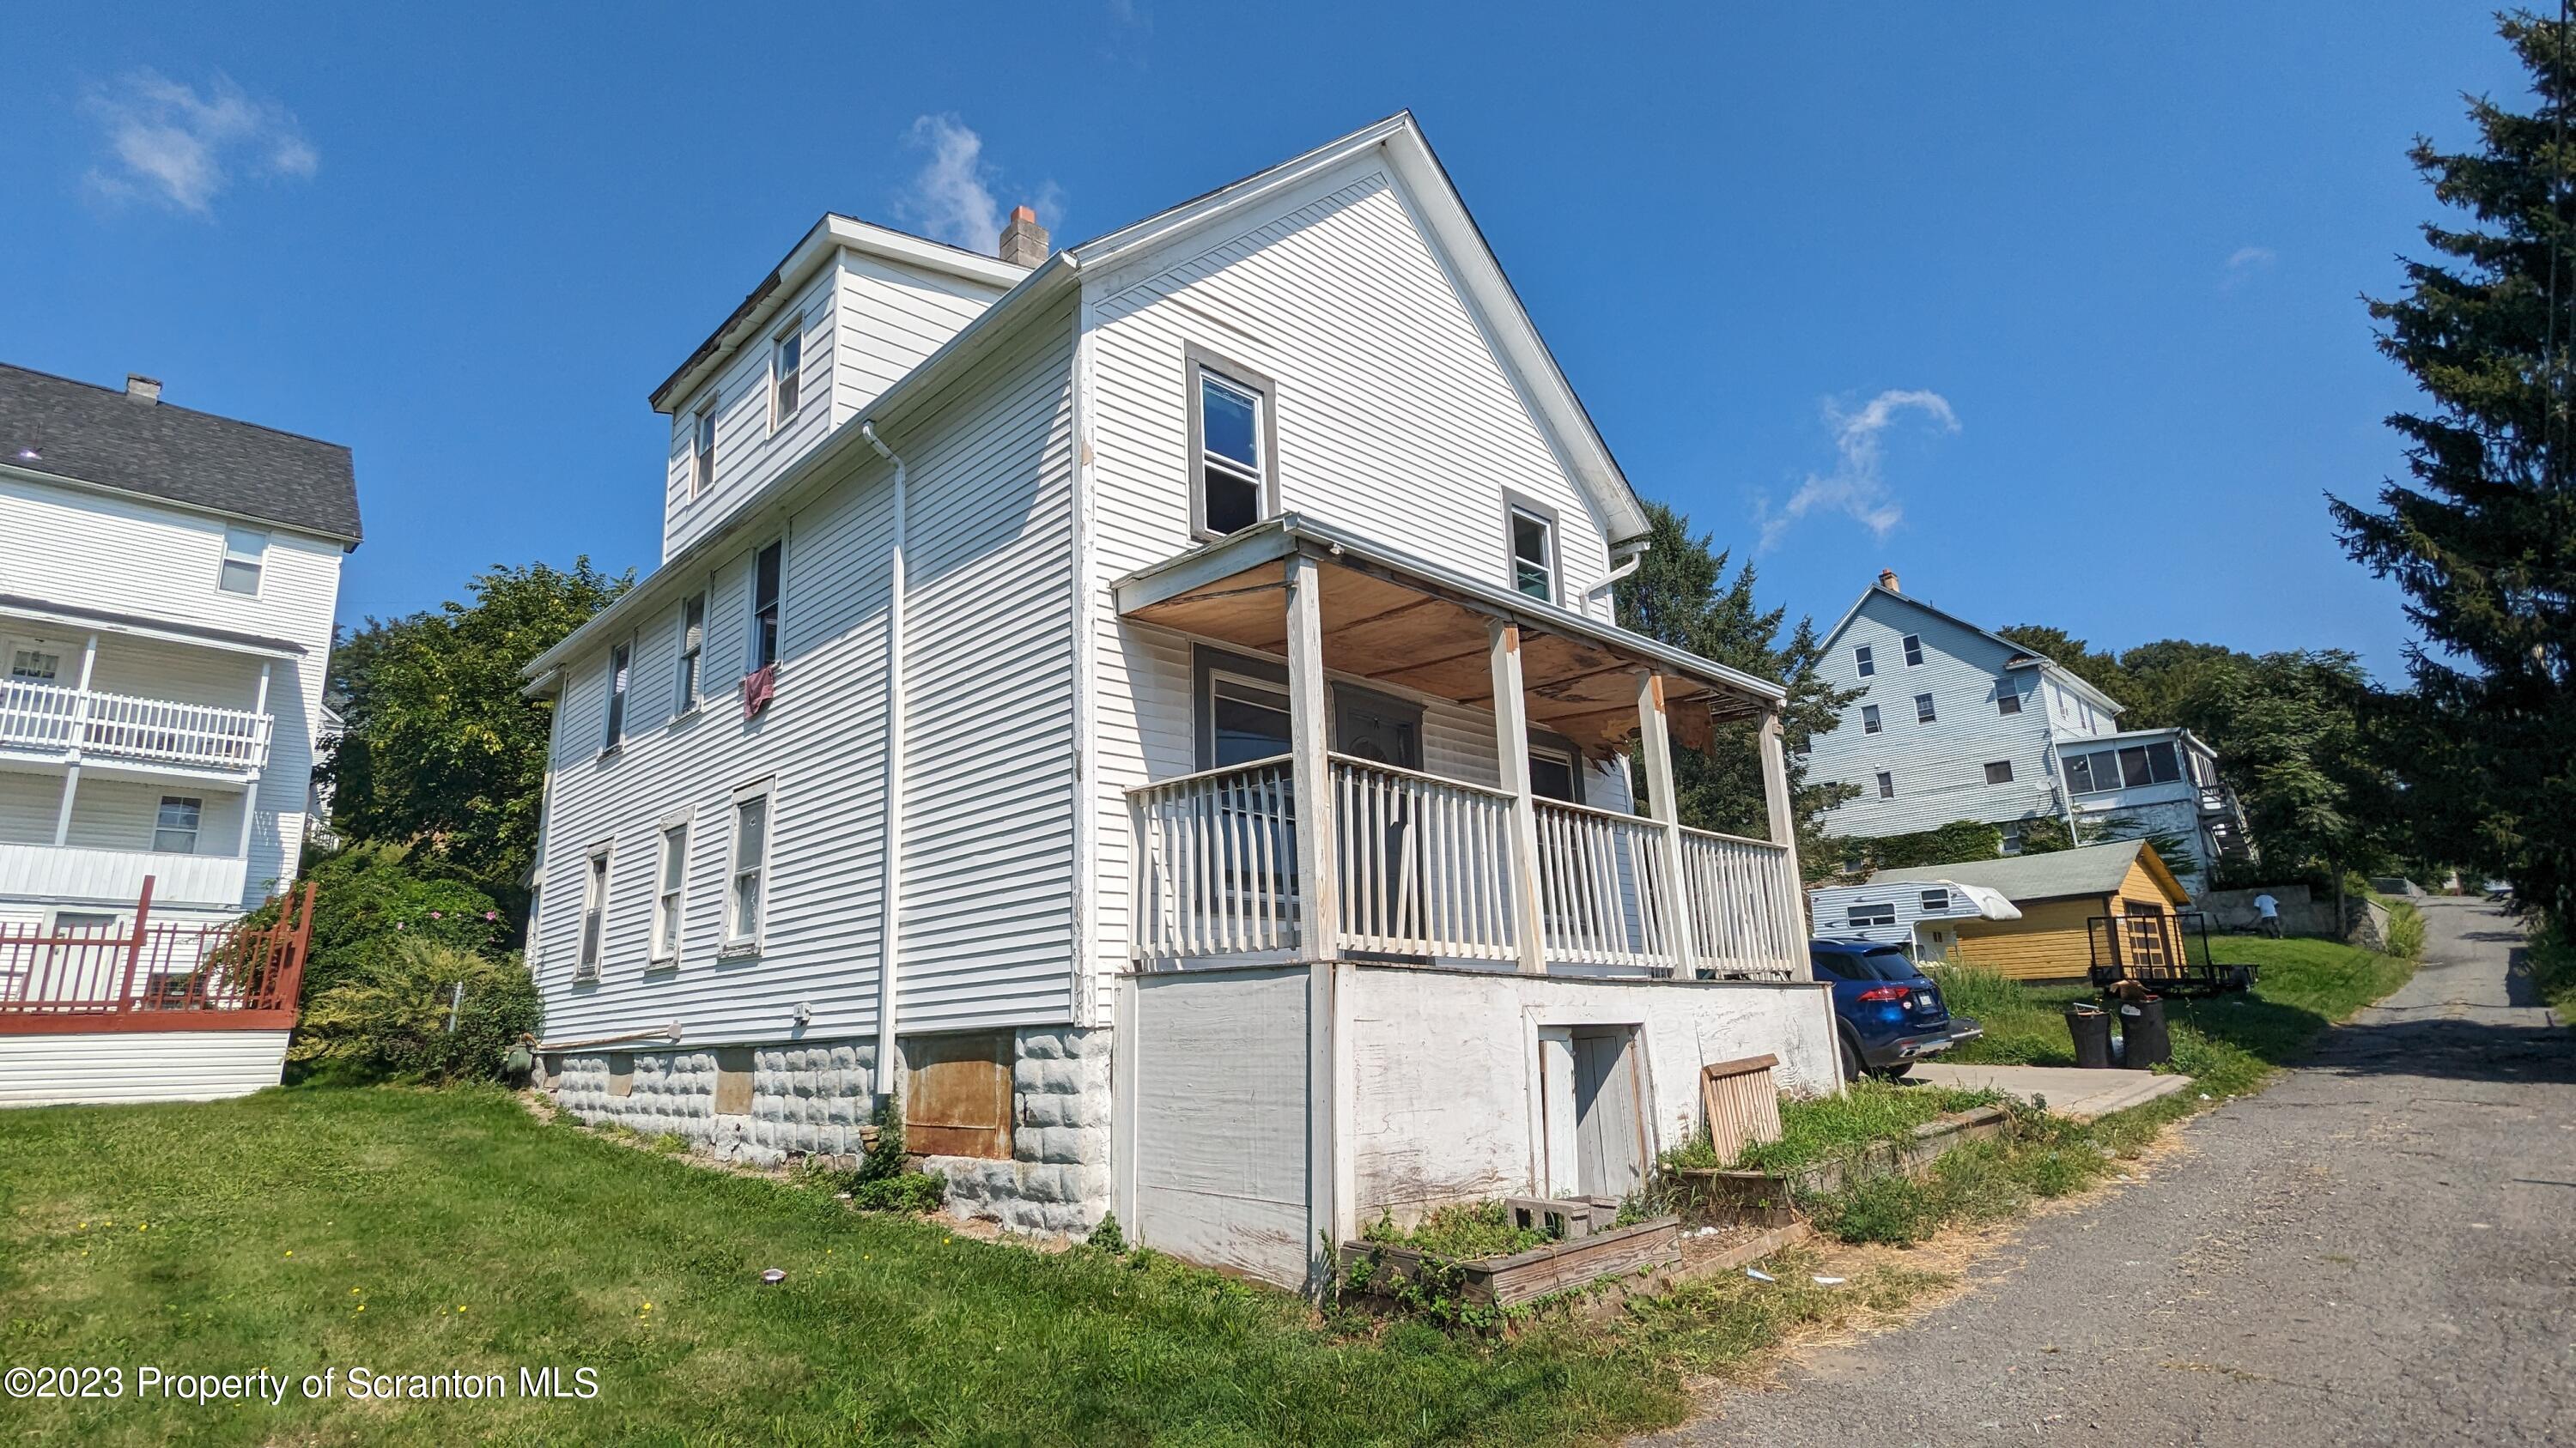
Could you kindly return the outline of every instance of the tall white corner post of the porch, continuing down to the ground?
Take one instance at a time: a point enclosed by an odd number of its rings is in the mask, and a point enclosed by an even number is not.
[[[1340,1244],[1358,1234],[1352,1201],[1350,964],[1334,879],[1332,714],[1324,683],[1324,580],[1288,557],[1288,747],[1296,794],[1298,956],[1306,958],[1306,1273],[1321,1293]]]

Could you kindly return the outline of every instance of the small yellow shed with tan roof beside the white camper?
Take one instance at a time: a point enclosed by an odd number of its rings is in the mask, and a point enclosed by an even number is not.
[[[2097,917],[2179,915],[2192,902],[2146,840],[1870,876],[1870,884],[1911,881],[1978,884],[2017,904],[2020,920],[1958,920],[1950,953],[2025,982],[2084,979],[2097,953],[2107,956],[2107,940],[2097,946],[2092,935]],[[2123,935],[2161,946],[2174,938],[2161,925],[2146,928],[2141,920],[2138,930]]]

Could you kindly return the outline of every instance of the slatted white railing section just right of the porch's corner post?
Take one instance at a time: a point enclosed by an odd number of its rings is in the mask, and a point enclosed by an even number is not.
[[[1332,755],[1345,951],[1510,961],[1512,796]]]

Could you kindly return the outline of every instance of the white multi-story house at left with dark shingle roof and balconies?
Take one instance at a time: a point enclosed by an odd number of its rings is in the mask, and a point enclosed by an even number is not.
[[[278,1082],[353,546],[348,448],[0,366],[0,1105]]]

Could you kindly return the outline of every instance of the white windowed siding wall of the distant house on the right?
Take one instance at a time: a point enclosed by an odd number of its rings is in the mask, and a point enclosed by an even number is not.
[[[1922,642],[1919,665],[1906,665],[1904,639]],[[1875,672],[1862,678],[1855,649],[1868,647]],[[1826,814],[1829,835],[1909,835],[1955,819],[2004,822],[2061,809],[2053,788],[2048,716],[2038,670],[2007,670],[2020,649],[1873,590],[1816,665],[1834,688],[1860,691],[1837,729],[1808,747],[1808,781],[1842,781],[1857,799]],[[2004,714],[1996,696],[2022,691],[2022,711]],[[1932,696],[1935,719],[1917,719],[1917,696]],[[1878,706],[1880,732],[1860,724],[1862,706]],[[2009,783],[1989,783],[1986,765],[2012,765]],[[1893,776],[1896,796],[1880,799],[1875,776]]]

